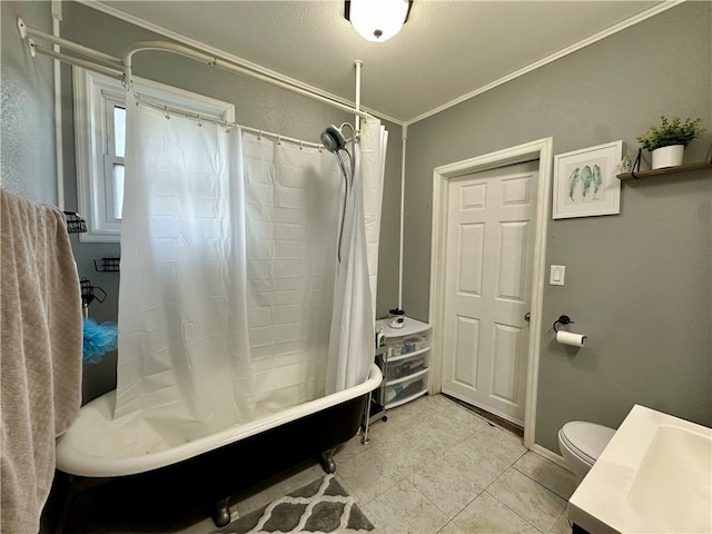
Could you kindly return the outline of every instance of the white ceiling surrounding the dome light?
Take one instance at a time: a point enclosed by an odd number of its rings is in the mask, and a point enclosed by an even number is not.
[[[382,43],[356,33],[343,1],[101,3],[350,102],[362,60],[362,105],[409,122],[676,2],[415,0]]]

